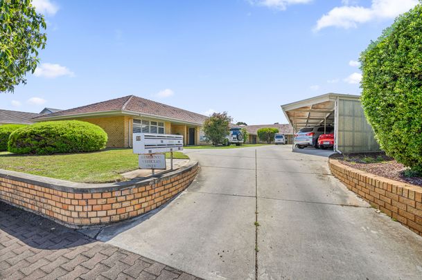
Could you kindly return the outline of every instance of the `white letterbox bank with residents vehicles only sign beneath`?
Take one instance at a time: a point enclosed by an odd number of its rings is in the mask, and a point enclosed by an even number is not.
[[[171,153],[173,169],[173,151],[183,150],[183,136],[173,134],[133,133],[133,153],[139,154],[139,168],[166,169],[166,152]]]

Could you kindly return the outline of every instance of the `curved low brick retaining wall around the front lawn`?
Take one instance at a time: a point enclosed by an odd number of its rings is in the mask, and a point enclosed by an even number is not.
[[[87,184],[0,169],[0,200],[68,227],[122,221],[155,209],[182,192],[199,167],[190,162],[158,178]]]

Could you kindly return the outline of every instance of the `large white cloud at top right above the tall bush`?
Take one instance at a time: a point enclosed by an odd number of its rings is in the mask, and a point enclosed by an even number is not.
[[[372,0],[371,7],[349,6],[351,1],[343,1],[344,6],[335,7],[317,21],[315,31],[327,27],[356,28],[376,19],[394,19],[416,6],[418,0]],[[354,5],[354,3],[353,3]]]

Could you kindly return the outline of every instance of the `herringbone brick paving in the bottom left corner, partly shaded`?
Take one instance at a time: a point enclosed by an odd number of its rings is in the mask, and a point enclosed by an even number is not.
[[[0,279],[198,278],[0,202]]]

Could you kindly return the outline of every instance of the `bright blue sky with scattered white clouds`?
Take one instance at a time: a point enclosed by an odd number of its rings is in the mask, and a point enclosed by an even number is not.
[[[359,54],[417,0],[33,0],[47,46],[1,109],[70,109],[125,95],[248,124],[280,105],[360,94]]]

